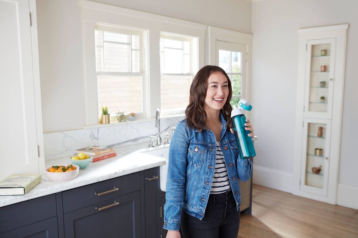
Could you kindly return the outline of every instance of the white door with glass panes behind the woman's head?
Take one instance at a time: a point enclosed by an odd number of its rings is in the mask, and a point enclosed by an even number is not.
[[[246,98],[246,52],[246,45],[216,40],[216,65],[227,73],[232,84],[231,105]]]

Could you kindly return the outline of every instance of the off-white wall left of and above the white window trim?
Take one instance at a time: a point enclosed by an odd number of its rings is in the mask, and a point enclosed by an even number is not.
[[[99,3],[251,33],[251,3],[244,0],[115,1]],[[78,0],[37,0],[44,133],[86,125],[83,28]]]

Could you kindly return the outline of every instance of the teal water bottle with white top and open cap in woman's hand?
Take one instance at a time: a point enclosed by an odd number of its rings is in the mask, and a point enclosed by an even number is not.
[[[251,111],[252,106],[250,102],[241,99],[238,103],[239,108],[233,106],[231,111],[231,124],[234,129],[236,137],[236,144],[240,153],[241,159],[247,159],[256,156],[255,148],[253,147],[252,138],[248,136],[250,131],[245,130],[246,117],[243,110]]]

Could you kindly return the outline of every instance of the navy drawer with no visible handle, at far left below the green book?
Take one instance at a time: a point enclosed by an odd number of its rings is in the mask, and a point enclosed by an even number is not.
[[[0,234],[57,216],[55,194],[0,208]]]

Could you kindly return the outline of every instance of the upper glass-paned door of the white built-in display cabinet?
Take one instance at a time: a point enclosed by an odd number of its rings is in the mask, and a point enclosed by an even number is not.
[[[332,119],[335,39],[308,40],[304,117]]]

